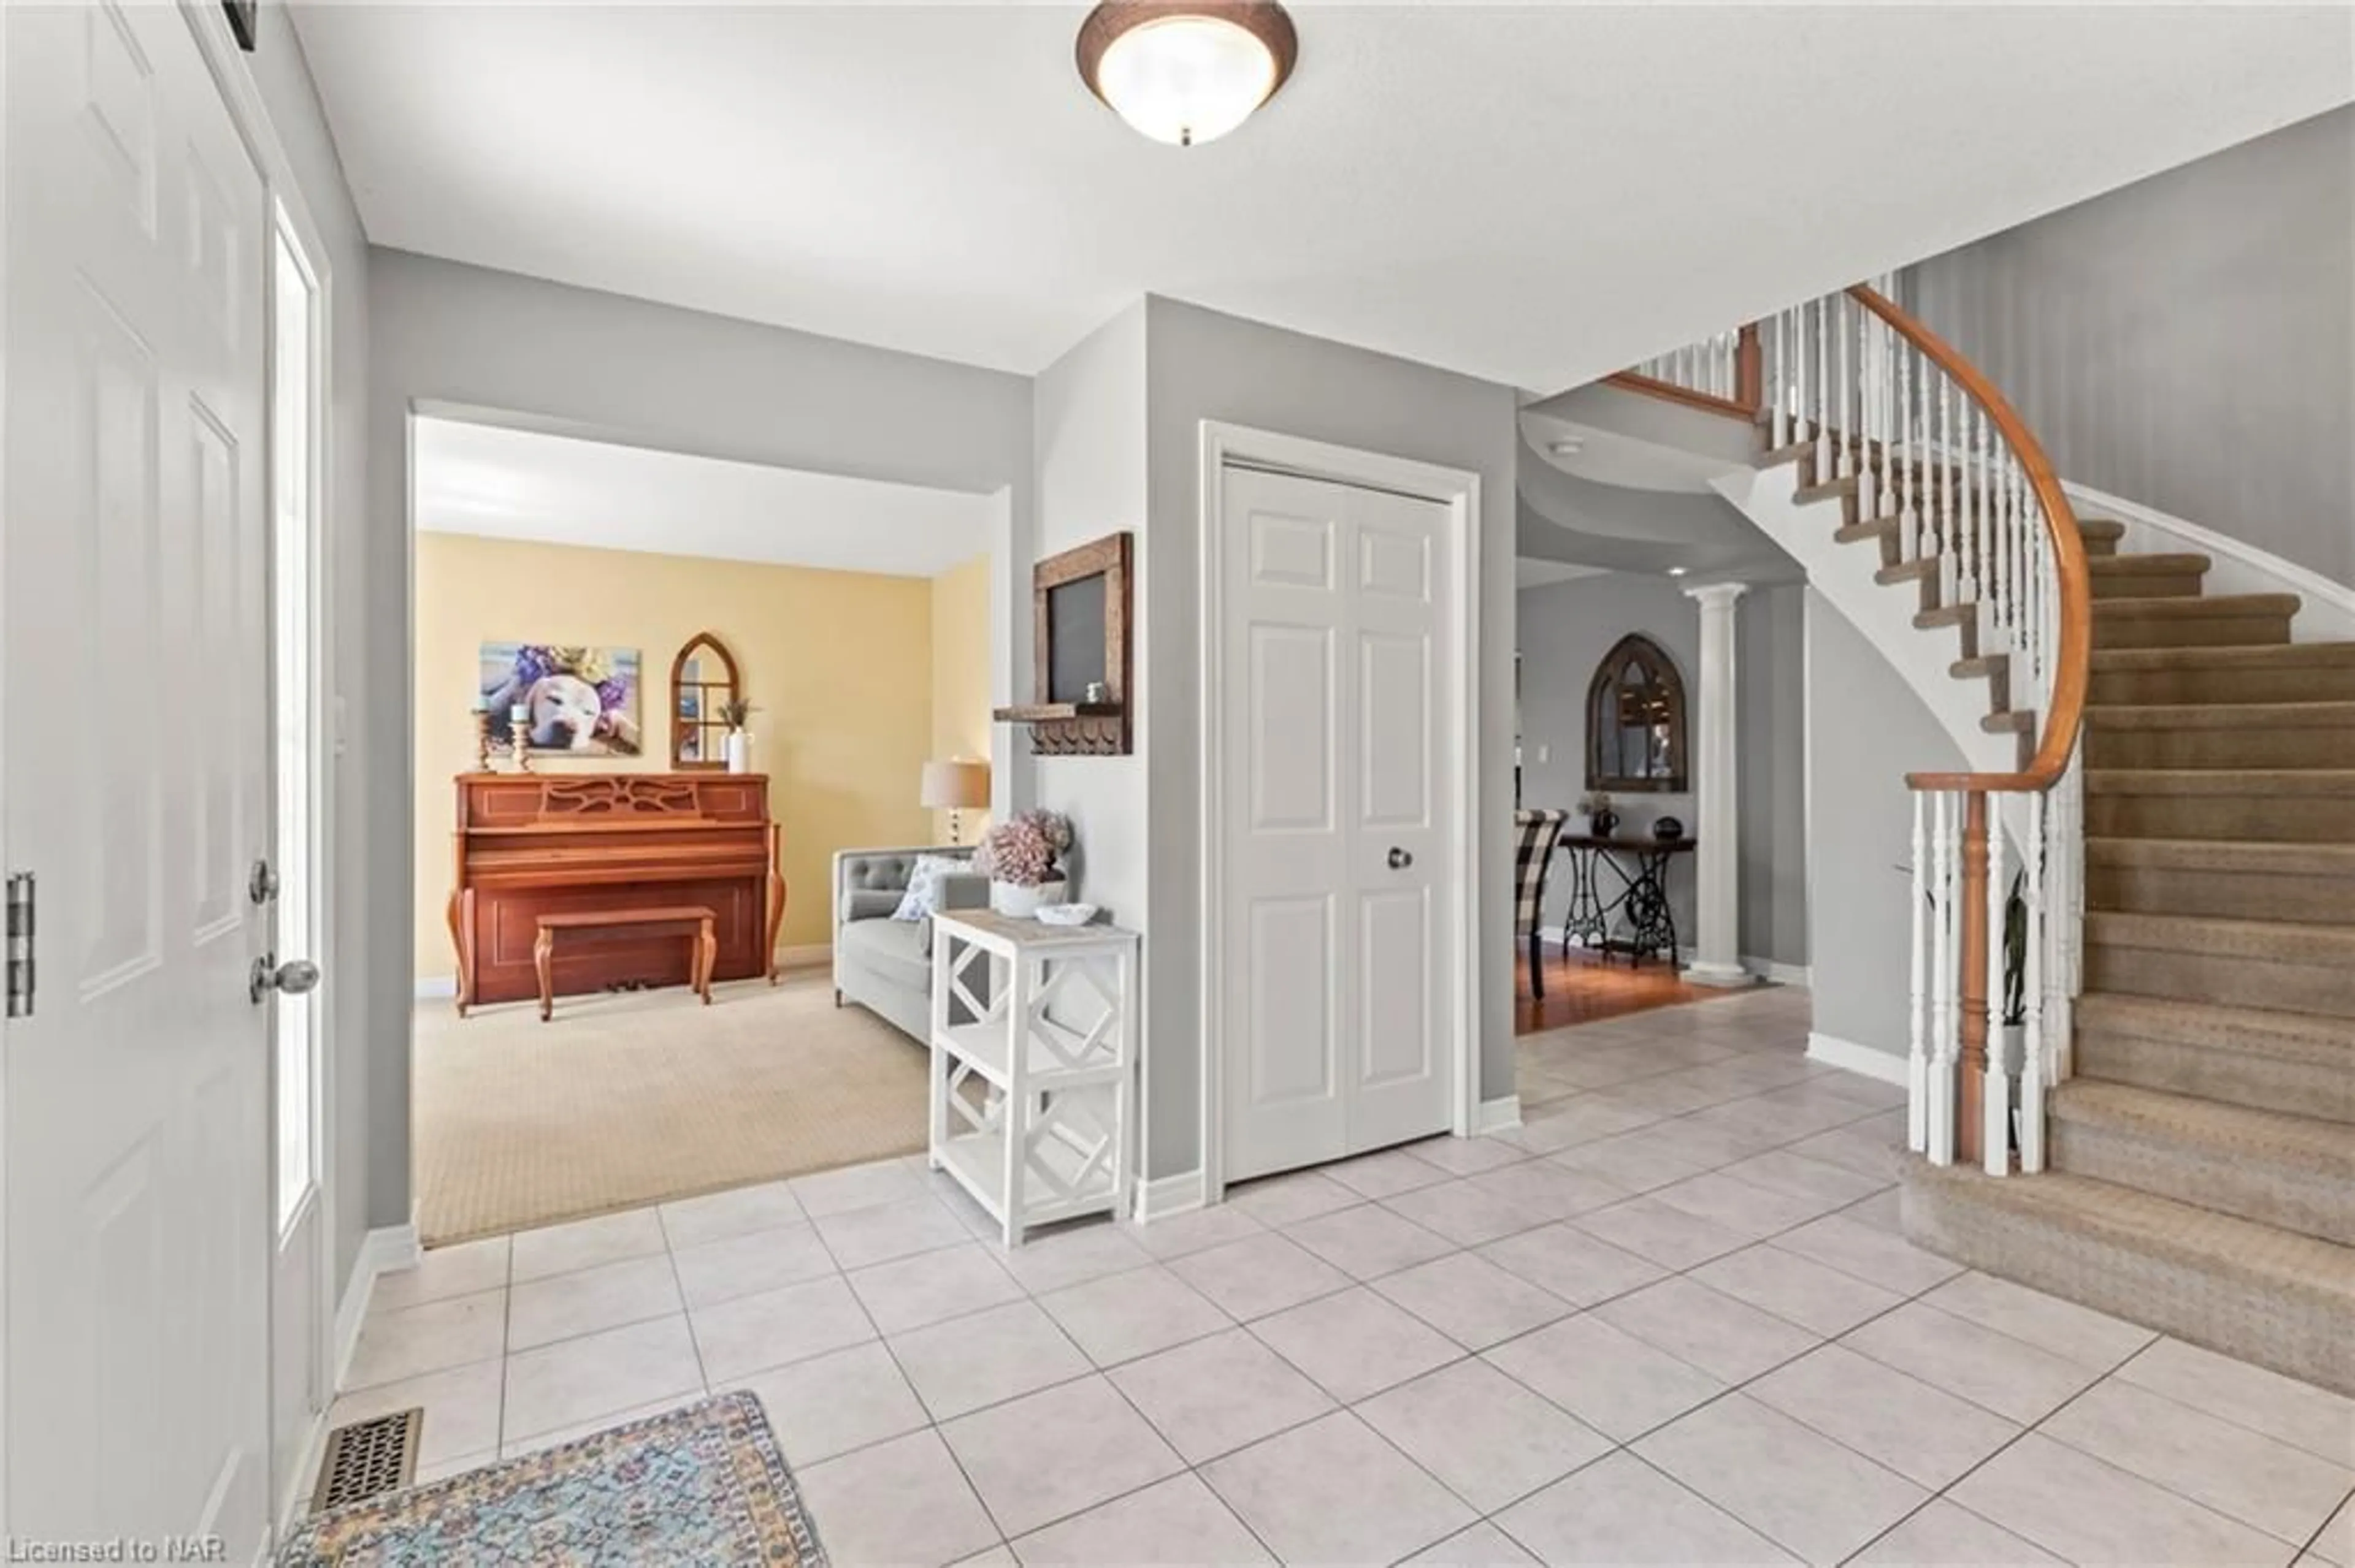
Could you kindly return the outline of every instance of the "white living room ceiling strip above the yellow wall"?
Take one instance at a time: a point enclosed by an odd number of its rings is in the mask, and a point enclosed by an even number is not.
[[[994,501],[452,419],[417,421],[417,527],[659,556],[933,577],[989,549]]]

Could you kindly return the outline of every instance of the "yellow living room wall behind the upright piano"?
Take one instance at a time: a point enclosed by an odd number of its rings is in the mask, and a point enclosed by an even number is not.
[[[961,678],[968,664],[980,671],[987,711],[987,567],[980,584],[980,640],[954,666]],[[532,768],[666,772],[671,657],[697,631],[718,633],[758,709],[749,725],[751,763],[768,775],[768,808],[784,824],[780,942],[815,946],[831,937],[834,850],[916,843],[928,833],[916,775],[935,753],[937,600],[923,577],[417,534],[417,975],[457,972],[443,913],[450,777],[473,768],[466,704],[485,640],[636,647],[645,753],[579,760],[542,753]],[[956,605],[951,626],[963,626],[958,617],[970,610]],[[367,723],[365,713],[358,718]]]

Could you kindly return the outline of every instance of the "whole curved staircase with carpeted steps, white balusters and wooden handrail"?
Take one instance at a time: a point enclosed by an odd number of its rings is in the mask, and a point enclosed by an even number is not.
[[[1762,428],[1717,490],[1969,758],[1910,779],[1908,1234],[2355,1394],[2355,643],[2122,553],[1884,292],[1613,381]]]

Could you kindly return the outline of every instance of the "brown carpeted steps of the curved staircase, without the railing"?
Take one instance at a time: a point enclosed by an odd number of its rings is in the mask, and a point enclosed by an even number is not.
[[[2355,643],[2082,523],[2084,994],[2049,1170],[1905,1165],[1922,1243],[2355,1394]]]

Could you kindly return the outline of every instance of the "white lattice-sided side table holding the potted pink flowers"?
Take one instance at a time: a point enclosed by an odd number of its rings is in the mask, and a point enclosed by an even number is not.
[[[963,1092],[982,1078],[980,1107]],[[984,909],[933,916],[933,1168],[1006,1245],[1128,1212],[1137,1121],[1137,932]]]

